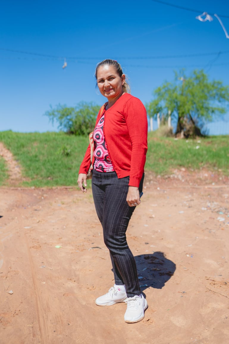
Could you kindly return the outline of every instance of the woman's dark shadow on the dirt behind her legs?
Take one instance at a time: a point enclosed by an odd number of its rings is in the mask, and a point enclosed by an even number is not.
[[[176,265],[163,252],[135,256],[141,290],[149,287],[161,289],[173,276]]]

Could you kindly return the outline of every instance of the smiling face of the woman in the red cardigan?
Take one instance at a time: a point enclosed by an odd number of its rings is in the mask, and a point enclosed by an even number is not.
[[[120,97],[123,94],[125,74],[121,77],[117,74],[114,66],[100,66],[97,71],[97,84],[101,94],[108,100]]]

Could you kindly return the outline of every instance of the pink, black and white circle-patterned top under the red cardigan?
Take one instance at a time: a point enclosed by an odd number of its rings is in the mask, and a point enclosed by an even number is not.
[[[100,118],[93,133],[94,139],[94,169],[98,172],[114,172],[107,151],[107,145],[103,133],[104,115]]]

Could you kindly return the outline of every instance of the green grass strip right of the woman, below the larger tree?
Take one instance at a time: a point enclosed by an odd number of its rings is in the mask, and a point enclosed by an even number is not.
[[[148,135],[146,169],[165,175],[175,168],[221,170],[229,175],[228,136],[175,140]]]

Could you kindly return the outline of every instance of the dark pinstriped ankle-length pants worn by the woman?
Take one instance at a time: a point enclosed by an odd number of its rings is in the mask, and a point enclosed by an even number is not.
[[[144,175],[139,186],[142,191]],[[141,293],[134,256],[126,241],[126,230],[136,207],[126,202],[129,176],[118,179],[116,172],[93,170],[92,193],[103,227],[103,238],[110,251],[115,284],[125,284],[127,297]]]

